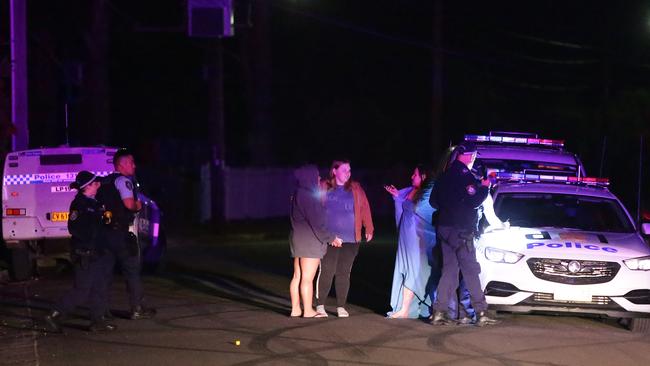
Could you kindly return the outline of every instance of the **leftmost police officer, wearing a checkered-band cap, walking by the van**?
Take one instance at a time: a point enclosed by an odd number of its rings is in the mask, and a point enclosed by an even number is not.
[[[116,327],[103,318],[108,307],[107,268],[113,259],[102,240],[101,205],[95,200],[100,187],[97,177],[87,171],[77,174],[70,188],[78,190],[70,204],[68,231],[72,235],[71,258],[74,263],[74,287],[55,305],[45,317],[49,330],[61,332],[60,319],[77,305],[90,298],[91,331],[111,331]]]

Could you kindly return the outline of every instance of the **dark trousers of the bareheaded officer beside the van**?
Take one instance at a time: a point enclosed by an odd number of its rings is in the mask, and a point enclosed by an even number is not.
[[[130,253],[127,243],[127,235],[129,235],[128,231],[107,229],[106,241],[109,250],[115,256],[115,261],[119,264],[124,280],[126,281],[126,287],[129,294],[129,304],[133,310],[142,305],[143,290],[142,279],[140,277],[140,257]],[[109,288],[113,282],[112,272],[111,269],[111,275],[108,276],[107,279],[107,286]]]

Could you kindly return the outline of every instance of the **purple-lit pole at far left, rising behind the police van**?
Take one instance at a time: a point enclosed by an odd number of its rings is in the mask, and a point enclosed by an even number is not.
[[[10,0],[11,27],[11,121],[16,132],[11,149],[29,148],[27,120],[27,0]]]

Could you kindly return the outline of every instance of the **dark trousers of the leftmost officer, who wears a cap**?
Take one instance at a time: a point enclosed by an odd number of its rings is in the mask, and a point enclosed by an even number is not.
[[[77,306],[89,300],[90,319],[98,321],[108,308],[108,287],[106,271],[113,266],[113,258],[106,253],[89,259],[87,264],[74,264],[74,287],[54,305],[62,314],[72,312]]]

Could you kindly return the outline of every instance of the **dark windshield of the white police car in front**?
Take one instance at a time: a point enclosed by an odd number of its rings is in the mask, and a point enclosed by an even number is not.
[[[512,226],[560,227],[629,233],[634,226],[621,205],[611,199],[553,193],[504,193],[494,209]]]

